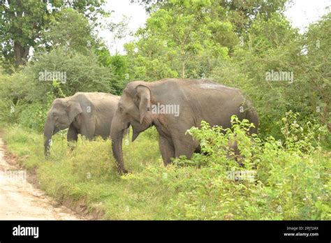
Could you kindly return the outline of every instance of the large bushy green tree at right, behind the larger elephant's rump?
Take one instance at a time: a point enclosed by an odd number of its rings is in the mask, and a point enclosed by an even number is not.
[[[281,117],[288,110],[300,112],[300,122],[321,124],[330,131],[330,74],[325,68],[330,63],[325,55],[330,35],[317,36],[330,24],[329,15],[312,25],[306,38],[291,29],[281,15],[272,14],[268,21],[260,16],[254,20],[244,45],[236,47],[233,56],[212,71],[216,82],[244,90],[253,101],[263,136],[281,138]],[[304,43],[309,47],[308,54],[302,53]],[[271,71],[292,72],[293,80],[267,81],[266,73]],[[330,135],[321,139],[329,141],[325,146],[330,146]]]

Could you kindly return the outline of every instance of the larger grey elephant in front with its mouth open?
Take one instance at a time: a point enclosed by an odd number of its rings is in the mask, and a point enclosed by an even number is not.
[[[198,142],[191,135],[185,135],[186,130],[200,126],[202,120],[211,126],[230,128],[232,115],[251,121],[255,128],[250,133],[257,132],[258,115],[240,89],[209,80],[130,82],[119,100],[110,129],[112,152],[119,171],[127,172],[123,162],[122,137],[130,125],[133,128],[132,141],[142,131],[156,126],[163,163],[167,165],[172,158],[181,155],[191,158],[193,152],[200,152]]]

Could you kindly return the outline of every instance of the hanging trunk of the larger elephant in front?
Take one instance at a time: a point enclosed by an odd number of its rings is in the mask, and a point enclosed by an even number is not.
[[[114,122],[115,121],[115,122]],[[112,139],[112,154],[115,157],[117,168],[119,172],[127,173],[124,168],[123,152],[122,152],[122,140],[125,128],[119,126],[122,122],[117,122],[116,119],[112,121],[112,128],[110,129],[110,138]]]

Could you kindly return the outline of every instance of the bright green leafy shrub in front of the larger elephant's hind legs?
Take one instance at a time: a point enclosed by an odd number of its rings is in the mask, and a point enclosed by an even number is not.
[[[205,154],[181,157],[168,168],[149,165],[124,179],[141,191],[153,184],[166,219],[330,219],[330,155],[314,141],[318,131],[298,125],[297,117],[286,113],[284,140],[249,137],[253,124],[237,117],[232,129],[203,121],[189,133]],[[239,157],[228,148],[234,140]]]

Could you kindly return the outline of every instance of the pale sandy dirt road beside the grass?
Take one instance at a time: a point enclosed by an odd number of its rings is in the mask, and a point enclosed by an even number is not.
[[[57,205],[27,182],[27,173],[5,161],[0,138],[0,220],[80,220],[82,216]]]

